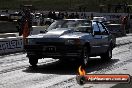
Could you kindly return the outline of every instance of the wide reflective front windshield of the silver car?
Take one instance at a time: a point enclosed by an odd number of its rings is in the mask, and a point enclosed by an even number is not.
[[[88,20],[59,20],[52,23],[48,30],[53,29],[72,29],[75,32],[91,32],[91,21]]]

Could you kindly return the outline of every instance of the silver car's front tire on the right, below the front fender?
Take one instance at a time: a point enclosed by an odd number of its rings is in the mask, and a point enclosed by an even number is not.
[[[82,55],[80,58],[80,62],[82,66],[86,66],[89,60],[88,48],[84,47],[82,50]]]

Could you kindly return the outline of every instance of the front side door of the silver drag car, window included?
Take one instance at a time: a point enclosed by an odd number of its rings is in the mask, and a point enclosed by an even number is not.
[[[102,35],[100,31],[100,27],[98,25],[98,22],[92,22],[92,28],[93,28],[93,37],[90,41],[91,43],[91,54],[99,55],[102,53]]]

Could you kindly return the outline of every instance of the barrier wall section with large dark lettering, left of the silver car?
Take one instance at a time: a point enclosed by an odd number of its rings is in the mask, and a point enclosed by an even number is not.
[[[0,38],[0,55],[23,51],[21,37]]]

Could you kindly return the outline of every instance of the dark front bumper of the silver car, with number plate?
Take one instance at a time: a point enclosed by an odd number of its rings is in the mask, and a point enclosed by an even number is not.
[[[81,45],[25,45],[27,57],[37,56],[38,58],[64,58],[80,57],[83,46]]]

